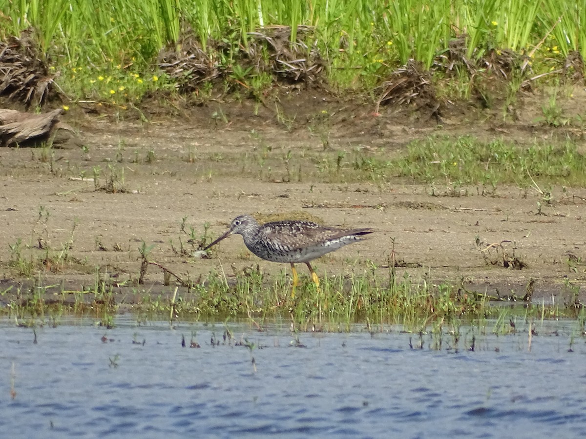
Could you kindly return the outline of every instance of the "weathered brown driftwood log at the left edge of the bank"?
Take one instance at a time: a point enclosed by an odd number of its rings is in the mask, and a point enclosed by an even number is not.
[[[63,147],[62,143],[70,140],[76,143],[73,129],[59,121],[62,112],[62,109],[54,109],[49,113],[30,114],[0,108],[0,146],[36,146],[49,142]],[[57,131],[63,129],[69,135],[56,136]]]

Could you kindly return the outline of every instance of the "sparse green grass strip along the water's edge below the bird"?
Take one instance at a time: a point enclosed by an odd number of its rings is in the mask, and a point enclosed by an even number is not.
[[[1,312],[32,324],[67,315],[87,315],[98,324],[111,325],[118,305],[113,286],[104,281],[105,274],[97,270],[94,285],[83,291],[46,286],[39,275],[28,290],[5,291],[3,296],[8,298],[9,306]],[[565,304],[524,303],[519,296],[519,306],[512,308],[493,306],[496,297],[466,289],[462,284],[432,284],[407,274],[397,278],[393,269],[387,279],[373,277],[370,272],[348,277],[322,276],[319,289],[311,279],[302,276],[301,280],[296,296],[291,297],[291,281],[284,275],[264,279],[260,272],[252,270],[228,283],[223,275],[210,273],[205,283],[188,289],[169,287],[168,292],[158,295],[134,289],[124,293],[124,300],[135,303],[135,313],[152,318],[250,320],[257,325],[284,318],[301,331],[350,331],[353,325],[365,323],[371,328],[396,325],[418,333],[433,325],[482,326],[486,320],[496,319],[493,331],[503,333],[509,329],[509,319],[582,316],[583,320],[584,315],[573,300],[575,291],[571,290]]]

